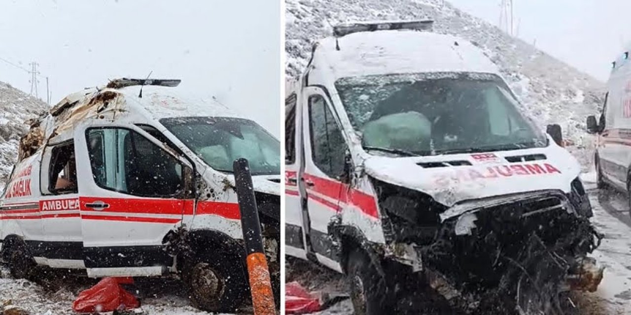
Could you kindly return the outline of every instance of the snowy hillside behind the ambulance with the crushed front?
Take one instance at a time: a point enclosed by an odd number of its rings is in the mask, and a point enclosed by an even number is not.
[[[584,139],[585,119],[601,106],[604,84],[446,1],[286,0],[285,16],[288,76],[300,73],[309,60],[312,43],[330,35],[331,25],[348,21],[435,20],[435,32],[462,37],[485,51],[521,98],[526,112],[542,128],[548,123],[559,123],[565,136],[579,147],[591,146],[591,138]],[[575,152],[584,165],[589,164],[587,152]]]

